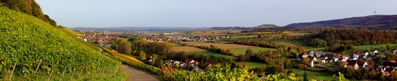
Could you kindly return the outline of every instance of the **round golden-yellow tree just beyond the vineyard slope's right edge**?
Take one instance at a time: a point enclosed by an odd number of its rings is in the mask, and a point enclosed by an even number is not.
[[[129,43],[126,39],[120,38],[117,43],[118,43],[117,47],[119,48],[119,50],[117,50],[117,51],[119,53],[131,54],[131,51],[132,51],[131,43]]]

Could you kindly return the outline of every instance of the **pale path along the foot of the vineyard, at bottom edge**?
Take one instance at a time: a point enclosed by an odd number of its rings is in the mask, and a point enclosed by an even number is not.
[[[145,73],[143,71],[139,71],[136,68],[132,68],[131,66],[122,65],[122,69],[129,73],[130,81],[159,81],[153,75]]]

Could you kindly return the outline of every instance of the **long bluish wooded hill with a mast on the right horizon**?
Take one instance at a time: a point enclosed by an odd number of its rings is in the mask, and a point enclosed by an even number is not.
[[[335,27],[357,29],[397,29],[397,15],[369,15],[365,17],[350,17],[339,20],[319,22],[303,22],[288,24],[285,27]]]

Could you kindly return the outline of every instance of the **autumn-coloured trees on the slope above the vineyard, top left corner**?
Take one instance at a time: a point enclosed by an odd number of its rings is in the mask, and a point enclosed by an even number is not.
[[[47,24],[57,27],[57,22],[52,20],[49,15],[42,12],[39,4],[35,0],[0,0],[0,6],[5,6],[11,10],[17,10],[28,15],[35,16]]]

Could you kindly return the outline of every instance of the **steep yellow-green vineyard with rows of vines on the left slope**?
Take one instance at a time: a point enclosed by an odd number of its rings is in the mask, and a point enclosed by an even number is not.
[[[121,65],[37,17],[0,7],[0,21],[0,80],[73,71],[90,75]]]

